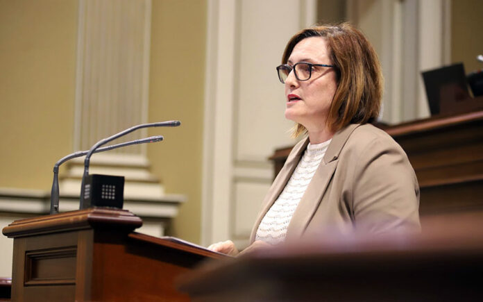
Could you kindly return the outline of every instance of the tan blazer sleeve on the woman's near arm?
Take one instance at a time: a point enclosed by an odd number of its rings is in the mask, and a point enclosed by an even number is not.
[[[354,163],[353,219],[366,233],[418,232],[419,187],[405,152],[391,137],[375,137]]]

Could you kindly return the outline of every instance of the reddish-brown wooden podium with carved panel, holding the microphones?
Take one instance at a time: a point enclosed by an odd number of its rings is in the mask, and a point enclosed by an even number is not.
[[[223,255],[133,230],[126,210],[91,208],[14,221],[13,301],[189,301],[174,279]]]

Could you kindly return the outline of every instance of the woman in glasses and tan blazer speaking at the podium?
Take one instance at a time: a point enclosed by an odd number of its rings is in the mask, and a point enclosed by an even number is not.
[[[349,233],[420,230],[419,187],[405,152],[373,126],[383,78],[378,56],[357,28],[305,28],[285,47],[278,78],[285,118],[304,135],[262,203],[251,246]],[[231,241],[209,249],[237,255]]]

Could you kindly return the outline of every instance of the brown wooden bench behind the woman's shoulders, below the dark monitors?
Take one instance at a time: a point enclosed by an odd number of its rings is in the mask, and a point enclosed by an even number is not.
[[[483,98],[479,98],[483,105]],[[483,210],[483,110],[384,128],[405,150],[421,187],[421,215]],[[291,147],[271,156],[275,173]]]

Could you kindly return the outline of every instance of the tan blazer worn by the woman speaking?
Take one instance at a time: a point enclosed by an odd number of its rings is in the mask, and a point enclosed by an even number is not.
[[[251,242],[309,143],[289,154],[262,203]],[[285,240],[356,231],[418,231],[419,187],[406,153],[371,124],[351,124],[332,137],[287,228]]]

